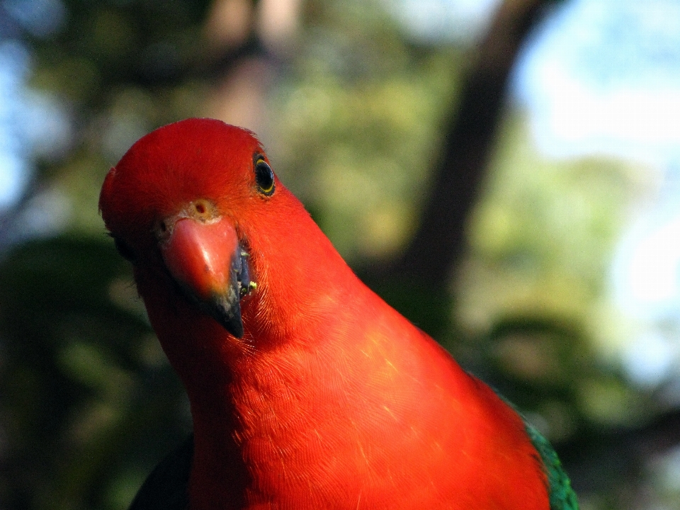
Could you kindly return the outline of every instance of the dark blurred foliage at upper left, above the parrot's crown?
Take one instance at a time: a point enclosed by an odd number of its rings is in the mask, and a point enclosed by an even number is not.
[[[34,179],[65,199],[69,230],[92,234],[101,231],[97,200],[106,171],[146,132],[198,115],[210,2],[63,3],[57,33],[26,34],[34,60],[28,86],[54,100],[72,127],[66,147],[38,156]]]

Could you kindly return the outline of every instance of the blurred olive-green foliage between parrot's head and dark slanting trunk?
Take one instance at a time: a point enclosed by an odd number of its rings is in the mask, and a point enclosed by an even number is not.
[[[410,44],[373,2],[312,4],[269,149],[346,259],[389,258],[414,229],[463,55]]]

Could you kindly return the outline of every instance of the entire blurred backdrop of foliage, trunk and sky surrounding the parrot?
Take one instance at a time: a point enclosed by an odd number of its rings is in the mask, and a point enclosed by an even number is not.
[[[0,0],[0,509],[125,509],[191,429],[97,212],[190,116],[259,133],[582,509],[680,509],[680,0]]]

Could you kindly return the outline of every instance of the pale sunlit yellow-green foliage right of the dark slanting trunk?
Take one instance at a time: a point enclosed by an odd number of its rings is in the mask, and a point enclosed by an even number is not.
[[[531,312],[591,327],[601,319],[596,308],[606,305],[613,247],[640,193],[642,169],[543,159],[517,117],[500,140],[470,221],[469,256],[457,285],[460,322],[480,331],[495,317]]]

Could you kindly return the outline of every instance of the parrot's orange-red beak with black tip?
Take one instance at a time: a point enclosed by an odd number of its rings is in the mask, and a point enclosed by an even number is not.
[[[231,222],[179,217],[160,248],[166,268],[187,300],[241,338],[240,300],[252,284],[248,254]]]

